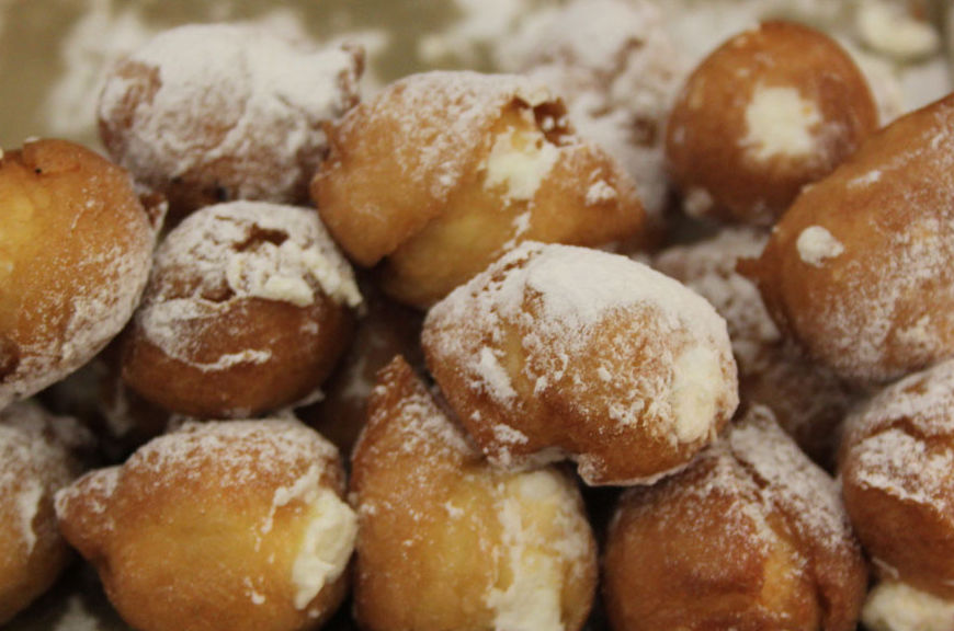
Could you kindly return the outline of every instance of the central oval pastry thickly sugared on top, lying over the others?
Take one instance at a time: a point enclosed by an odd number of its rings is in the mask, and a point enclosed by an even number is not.
[[[568,457],[588,484],[684,467],[738,404],[726,323],[615,254],[523,243],[434,306],[428,367],[495,464]]]

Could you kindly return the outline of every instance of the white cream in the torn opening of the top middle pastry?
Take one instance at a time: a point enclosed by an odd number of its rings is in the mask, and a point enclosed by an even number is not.
[[[502,187],[508,199],[529,202],[557,161],[559,151],[535,127],[497,136],[487,157],[485,183]]]

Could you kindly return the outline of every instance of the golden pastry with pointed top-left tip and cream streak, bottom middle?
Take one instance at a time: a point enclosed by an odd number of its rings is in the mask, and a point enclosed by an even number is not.
[[[581,629],[597,549],[576,483],[491,468],[402,357],[379,375],[352,471],[362,629]]]

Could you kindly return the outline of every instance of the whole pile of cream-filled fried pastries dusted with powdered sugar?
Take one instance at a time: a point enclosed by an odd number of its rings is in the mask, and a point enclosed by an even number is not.
[[[0,624],[81,558],[141,631],[954,629],[954,95],[555,20],[365,100],[178,27],[109,160],[0,154]]]

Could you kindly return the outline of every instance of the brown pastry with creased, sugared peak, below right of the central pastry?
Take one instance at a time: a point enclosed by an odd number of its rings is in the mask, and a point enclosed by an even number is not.
[[[867,587],[836,482],[761,406],[623,494],[603,580],[614,631],[853,631]]]

